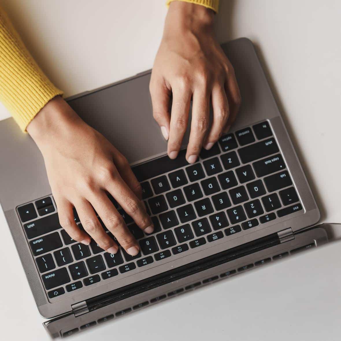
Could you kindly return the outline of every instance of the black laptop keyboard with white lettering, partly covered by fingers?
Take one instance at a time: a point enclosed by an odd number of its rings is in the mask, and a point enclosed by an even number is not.
[[[302,210],[268,121],[223,136],[210,150],[202,150],[193,165],[185,153],[176,160],[164,156],[132,168],[154,223],[152,234],[142,232],[111,198],[139,242],[136,256],[121,248],[109,254],[94,240],[89,246],[74,241],[60,226],[50,196],[18,207],[49,298]],[[74,215],[83,228],[75,210]]]

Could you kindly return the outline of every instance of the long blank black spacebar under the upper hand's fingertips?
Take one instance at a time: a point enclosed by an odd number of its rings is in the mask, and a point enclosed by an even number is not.
[[[169,159],[168,155],[161,158],[144,162],[132,167],[132,170],[139,182],[149,178],[154,178],[170,172],[171,170],[188,165],[186,161],[186,149],[180,150],[178,157],[175,160]]]

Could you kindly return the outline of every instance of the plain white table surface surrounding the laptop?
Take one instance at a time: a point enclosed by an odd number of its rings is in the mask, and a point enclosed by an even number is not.
[[[164,0],[2,0],[31,53],[73,95],[151,68]],[[255,44],[320,207],[341,222],[341,2],[221,0],[220,42]],[[247,100],[247,99],[243,99]],[[9,117],[0,105],[0,119]],[[1,190],[1,189],[0,189]],[[1,338],[45,340],[3,213]],[[339,340],[340,243],[160,303],[75,340]],[[5,338],[6,339],[6,338]]]

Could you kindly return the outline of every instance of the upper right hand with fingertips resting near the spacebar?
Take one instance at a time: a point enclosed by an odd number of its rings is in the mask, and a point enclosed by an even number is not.
[[[169,6],[149,88],[153,116],[168,140],[171,159],[177,157],[187,129],[191,98],[189,163],[196,161],[202,146],[210,149],[227,133],[239,110],[241,98],[234,69],[214,38],[213,16],[213,11],[197,4],[174,1]]]

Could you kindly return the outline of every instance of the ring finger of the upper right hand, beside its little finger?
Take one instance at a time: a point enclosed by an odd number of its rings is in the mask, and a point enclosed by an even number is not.
[[[226,126],[229,107],[223,85],[216,84],[212,89],[213,121],[205,139],[204,148],[210,149],[218,141]]]

